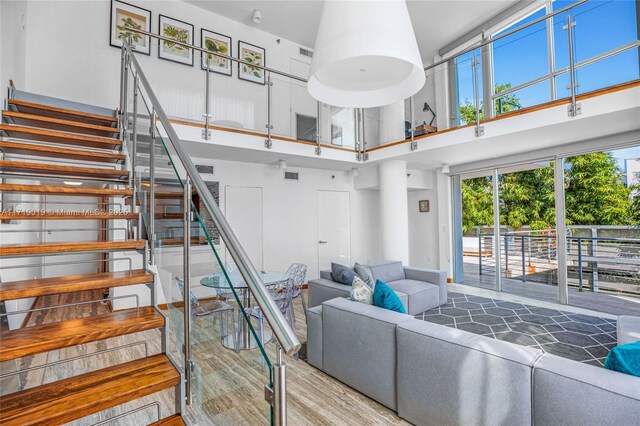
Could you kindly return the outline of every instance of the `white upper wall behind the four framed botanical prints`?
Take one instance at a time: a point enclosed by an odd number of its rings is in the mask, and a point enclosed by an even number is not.
[[[29,0],[21,3],[26,9],[29,30],[26,34],[26,80],[18,88],[115,108],[120,51],[109,46],[110,1]],[[196,45],[200,44],[200,29],[205,28],[230,36],[234,56],[237,56],[238,40],[265,48],[266,65],[275,69],[289,72],[292,58],[310,61],[299,54],[298,44],[182,1],[138,0],[130,3],[151,10],[151,31],[155,33],[158,16],[163,14],[193,24]],[[20,49],[20,52],[24,51],[24,48]],[[205,74],[199,55],[194,58],[193,67],[164,61],[158,58],[157,44],[152,41],[151,55],[137,54],[136,57],[168,115],[202,120]],[[211,84],[214,120],[236,121],[244,128],[264,131],[266,86],[239,80],[237,66],[233,67],[232,77],[212,73]],[[290,82],[281,77],[274,84],[274,131],[285,135],[295,129],[291,123],[295,114],[291,113],[289,105],[293,103],[306,108],[308,104],[306,99],[292,100],[290,86]],[[299,92],[296,91],[296,96],[308,97],[306,92]]]

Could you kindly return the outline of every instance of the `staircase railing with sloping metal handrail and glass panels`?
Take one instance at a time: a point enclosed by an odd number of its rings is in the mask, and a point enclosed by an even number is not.
[[[216,392],[234,398],[238,381],[266,382],[266,390],[255,386],[256,398],[267,400],[274,424],[286,424],[286,363],[282,352],[294,355],[300,341],[220,211],[127,40],[123,41],[121,65],[119,126],[133,166],[136,191],[132,204],[140,206],[144,225],[139,232],[150,240],[149,264],[157,271],[164,291],[164,313],[171,330],[167,352],[184,374],[186,405],[199,415],[214,416],[206,407],[219,397]],[[224,263],[219,255],[221,242],[232,264]],[[237,269],[237,276],[229,272],[231,265]],[[193,299],[197,300],[194,291],[203,288],[192,285],[198,276],[215,276],[227,297],[218,292],[218,298],[224,301],[194,312],[193,306],[201,307]],[[260,310],[268,330],[261,327],[258,333],[254,329],[251,304]],[[236,310],[237,318],[233,318]],[[220,317],[219,333],[199,320],[202,312]],[[225,316],[228,313],[231,319]],[[271,340],[267,333],[275,339],[273,351],[267,347]],[[244,350],[251,348],[259,349],[258,358]],[[211,352],[226,364],[212,366]],[[274,361],[270,359],[272,352]],[[231,374],[221,375],[221,368]],[[243,414],[239,410],[233,420],[227,417],[215,422],[248,421]]]

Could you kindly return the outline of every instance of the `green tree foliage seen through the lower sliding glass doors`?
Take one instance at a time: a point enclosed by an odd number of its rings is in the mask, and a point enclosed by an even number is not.
[[[514,230],[555,226],[553,162],[499,176],[500,223]],[[570,225],[637,225],[640,196],[631,197],[611,153],[569,157],[565,162],[566,221]],[[640,189],[640,188],[638,188]],[[640,195],[640,192],[636,194]],[[462,226],[493,225],[489,178],[462,181]]]

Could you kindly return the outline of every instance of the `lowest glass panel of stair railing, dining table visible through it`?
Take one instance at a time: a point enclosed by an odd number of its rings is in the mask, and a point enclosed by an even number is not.
[[[220,237],[197,200],[191,210],[191,408],[201,424],[269,424],[274,338],[236,265],[218,256]]]

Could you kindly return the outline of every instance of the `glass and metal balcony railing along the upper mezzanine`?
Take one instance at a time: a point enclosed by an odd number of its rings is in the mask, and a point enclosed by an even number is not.
[[[212,69],[203,73],[199,90],[184,93],[166,87],[158,92],[167,114],[178,119],[175,122],[203,127],[204,139],[211,138],[212,129],[240,132],[264,138],[267,149],[272,148],[273,141],[285,141],[308,145],[319,156],[323,149],[337,149],[353,152],[356,160],[366,161],[368,152],[389,146],[407,144],[415,150],[419,142],[426,143],[443,130],[474,126],[475,134],[482,136],[485,123],[540,108],[567,105],[567,114],[576,116],[581,113],[583,97],[605,89],[640,85],[637,31],[632,39],[609,37],[611,41],[599,42],[597,48],[585,47],[594,44],[590,33],[597,32],[597,37],[607,28],[615,29],[616,13],[622,13],[618,9],[633,5],[579,0],[554,9],[554,2],[548,2],[517,27],[487,35],[426,67],[427,84],[413,97],[366,109],[339,108],[311,98],[303,76],[307,72],[305,64],[297,74],[291,74],[157,34],[131,31],[161,46],[165,42],[183,46],[193,62],[199,63],[198,68]],[[497,61],[530,46],[546,52],[544,57],[532,54],[521,62]],[[259,71],[259,83],[264,84],[219,77],[208,62],[211,58],[251,66]],[[546,64],[532,65],[538,62]],[[620,64],[628,66],[621,71]],[[513,81],[499,81],[507,74]],[[436,91],[446,92],[449,111],[435,105],[433,86]],[[444,116],[448,119],[443,120]]]

